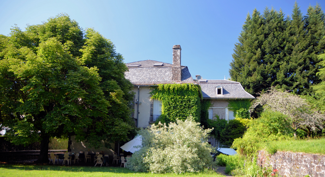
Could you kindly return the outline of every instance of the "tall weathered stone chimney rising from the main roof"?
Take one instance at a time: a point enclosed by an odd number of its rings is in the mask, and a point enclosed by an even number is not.
[[[172,82],[182,81],[181,46],[173,46]]]

